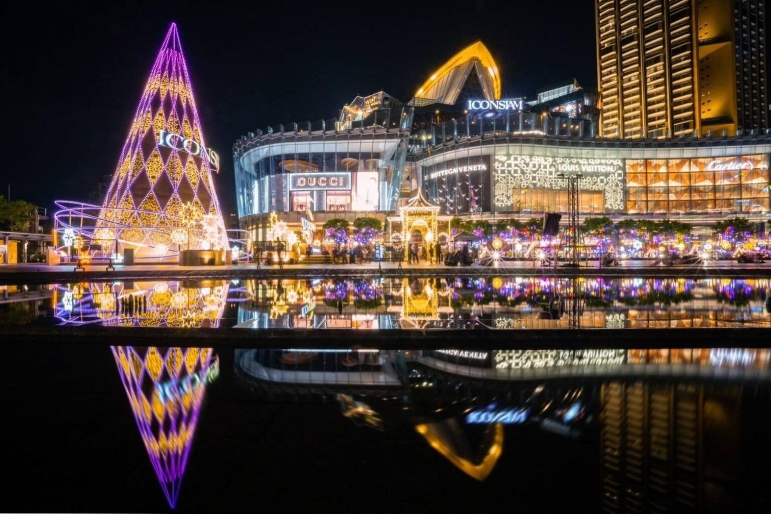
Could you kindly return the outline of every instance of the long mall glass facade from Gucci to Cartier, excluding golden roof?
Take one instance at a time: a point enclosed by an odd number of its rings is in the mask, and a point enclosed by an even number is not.
[[[536,113],[425,126],[413,125],[413,108],[391,111],[372,113],[371,126],[280,126],[242,138],[234,148],[239,216],[396,213],[416,188],[440,216],[566,213],[566,177],[577,174],[584,215],[771,212],[766,134],[639,143],[594,138],[579,123],[588,120]]]

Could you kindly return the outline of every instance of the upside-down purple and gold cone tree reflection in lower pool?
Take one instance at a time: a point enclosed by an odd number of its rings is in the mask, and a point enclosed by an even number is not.
[[[219,359],[211,348],[111,349],[150,463],[173,508],[206,386],[219,375]]]

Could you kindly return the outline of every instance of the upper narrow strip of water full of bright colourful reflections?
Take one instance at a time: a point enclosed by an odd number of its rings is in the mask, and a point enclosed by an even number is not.
[[[768,279],[493,277],[3,286],[8,324],[217,328],[771,327]]]

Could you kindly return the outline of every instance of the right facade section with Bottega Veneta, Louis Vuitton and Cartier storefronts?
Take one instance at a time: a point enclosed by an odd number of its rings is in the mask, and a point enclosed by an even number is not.
[[[524,136],[490,126],[426,146],[412,159],[426,197],[446,215],[566,213],[566,177],[580,174],[584,215],[698,220],[747,214],[762,220],[771,207],[769,152],[769,135],[629,144]]]

